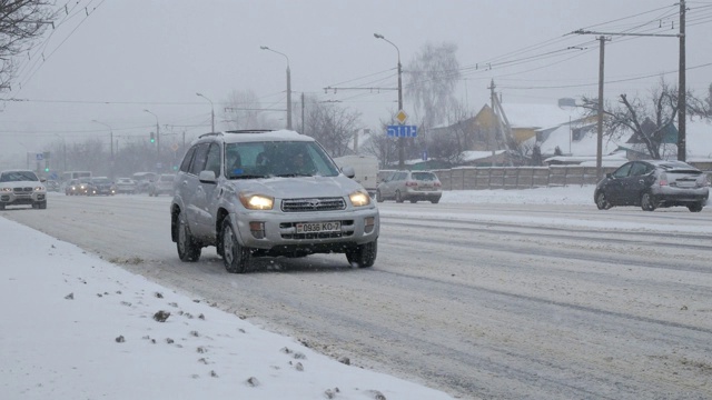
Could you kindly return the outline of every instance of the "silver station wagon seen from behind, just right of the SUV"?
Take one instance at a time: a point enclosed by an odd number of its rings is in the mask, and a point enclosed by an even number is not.
[[[441,180],[431,171],[395,171],[378,183],[376,201],[395,200],[412,203],[426,200],[437,203],[443,197]]]

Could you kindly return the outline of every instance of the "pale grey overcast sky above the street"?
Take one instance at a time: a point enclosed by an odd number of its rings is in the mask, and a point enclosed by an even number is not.
[[[712,82],[712,1],[688,6],[688,86],[704,97]],[[107,126],[119,147],[147,140],[157,119],[161,143],[184,132],[194,138],[210,129],[210,103],[196,92],[212,101],[218,129],[233,90],[251,90],[264,108],[284,109],[287,59],[260,46],[288,57],[293,100],[304,92],[340,101],[375,129],[397,108],[397,52],[375,32],[398,47],[404,82],[424,44],[455,43],[463,74],[457,97],[476,112],[488,102],[491,80],[505,103],[595,97],[597,36],[567,34],[574,30],[674,34],[679,28],[679,6],[665,0],[78,0],[67,7],[21,60],[12,91],[0,94],[0,164],[61,140],[97,137],[108,146]],[[676,38],[611,39],[606,98],[647,96],[663,73],[676,84]],[[404,104],[412,112],[407,97]],[[286,123],[284,111],[270,116]]]

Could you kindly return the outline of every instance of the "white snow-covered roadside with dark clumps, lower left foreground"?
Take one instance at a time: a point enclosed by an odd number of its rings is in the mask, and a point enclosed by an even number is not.
[[[2,399],[452,398],[329,359],[4,218],[0,231]]]

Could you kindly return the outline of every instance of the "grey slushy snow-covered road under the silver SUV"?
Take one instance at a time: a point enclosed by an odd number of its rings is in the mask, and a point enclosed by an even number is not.
[[[380,203],[374,268],[313,256],[259,260],[243,276],[214,250],[178,261],[168,198],[53,197],[50,218],[7,217],[453,396],[712,398],[711,210],[599,211],[582,191]]]

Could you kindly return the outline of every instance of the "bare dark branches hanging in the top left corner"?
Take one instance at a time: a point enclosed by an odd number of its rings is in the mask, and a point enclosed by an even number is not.
[[[53,24],[53,6],[50,0],[0,0],[0,91],[10,89],[18,67],[14,58]]]

